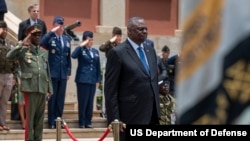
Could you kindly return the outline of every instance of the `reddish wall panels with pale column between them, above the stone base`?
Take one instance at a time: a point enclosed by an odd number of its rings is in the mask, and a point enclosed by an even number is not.
[[[174,36],[178,29],[178,0],[40,0],[40,17],[52,27],[61,15],[66,24],[82,22],[77,31],[110,32],[113,26],[126,27],[130,17],[145,18],[150,35]]]

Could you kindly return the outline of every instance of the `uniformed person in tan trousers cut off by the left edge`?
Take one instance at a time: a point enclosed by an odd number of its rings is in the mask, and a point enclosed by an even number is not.
[[[8,33],[7,24],[0,21],[0,131],[9,130],[6,125],[7,102],[9,101],[13,81],[13,61],[6,58],[11,49],[10,41],[6,39]]]

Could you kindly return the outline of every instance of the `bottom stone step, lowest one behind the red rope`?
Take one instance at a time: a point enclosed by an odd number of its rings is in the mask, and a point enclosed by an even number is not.
[[[75,138],[100,138],[107,128],[70,128],[72,135]],[[109,132],[107,137],[112,137],[112,133]],[[43,139],[54,139],[56,140],[57,134],[56,129],[43,129]],[[61,129],[61,138],[70,139],[65,129]],[[24,130],[10,130],[10,131],[1,131],[0,140],[23,140],[24,139]]]

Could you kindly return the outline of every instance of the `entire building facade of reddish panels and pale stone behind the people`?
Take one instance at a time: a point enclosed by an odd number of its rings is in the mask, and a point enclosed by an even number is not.
[[[164,45],[170,47],[171,55],[179,52],[179,0],[25,0],[19,3],[16,0],[7,0],[6,2],[9,11],[19,18],[19,22],[29,17],[28,6],[38,3],[40,19],[46,22],[48,30],[52,28],[54,16],[63,16],[65,25],[79,20],[82,25],[75,28],[74,32],[81,36],[85,30],[93,31],[95,46],[111,37],[113,26],[123,29],[125,39],[128,19],[140,16],[146,20],[149,38],[154,41],[157,53],[160,54]],[[15,26],[18,25],[17,22],[13,22]],[[76,64],[77,62],[72,62],[72,76],[67,86],[66,101],[76,101],[74,83]]]

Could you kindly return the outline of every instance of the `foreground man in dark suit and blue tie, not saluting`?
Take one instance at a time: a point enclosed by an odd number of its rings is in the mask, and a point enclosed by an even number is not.
[[[159,124],[157,57],[154,48],[143,44],[147,38],[144,19],[132,17],[127,34],[127,40],[111,49],[107,58],[104,94],[108,123],[118,119],[125,124]],[[121,141],[125,132],[121,132]]]

